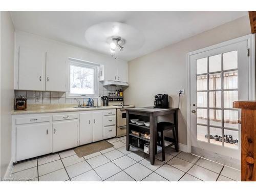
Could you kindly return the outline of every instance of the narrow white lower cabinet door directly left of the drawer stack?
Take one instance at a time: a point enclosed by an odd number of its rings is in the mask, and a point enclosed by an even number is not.
[[[103,139],[103,112],[92,112],[93,142]]]

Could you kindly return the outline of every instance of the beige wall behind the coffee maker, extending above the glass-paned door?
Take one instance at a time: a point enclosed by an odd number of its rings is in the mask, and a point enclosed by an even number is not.
[[[186,54],[250,33],[249,17],[244,16],[129,61],[130,86],[124,90],[125,103],[135,104],[135,106],[153,106],[154,95],[165,93],[171,97],[169,106],[177,107],[178,91],[184,89],[185,95],[181,96],[178,121],[179,142],[186,144]]]

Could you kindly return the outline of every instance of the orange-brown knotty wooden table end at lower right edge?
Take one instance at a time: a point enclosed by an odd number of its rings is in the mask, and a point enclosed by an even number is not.
[[[256,181],[256,101],[234,101],[241,114],[241,181]]]

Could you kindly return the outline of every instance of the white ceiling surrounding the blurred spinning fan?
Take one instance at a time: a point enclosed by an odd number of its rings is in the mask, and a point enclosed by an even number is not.
[[[140,57],[247,14],[246,11],[11,12],[16,29],[108,55],[111,55],[109,49],[91,46],[84,32],[102,22],[128,24],[141,32],[144,44],[140,49],[125,51],[124,47],[122,52],[118,52],[117,56],[125,60]]]

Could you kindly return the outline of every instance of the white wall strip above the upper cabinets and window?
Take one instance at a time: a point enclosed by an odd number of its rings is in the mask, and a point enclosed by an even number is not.
[[[68,45],[56,40],[49,38],[41,37],[31,33],[26,33],[23,31],[15,30],[15,49],[18,49],[18,46],[24,47],[33,47],[35,49],[41,49],[44,51],[50,51],[56,53],[57,55],[61,54],[63,57],[75,58],[85,61],[90,61],[104,65],[104,70],[112,70],[112,67],[122,66],[127,69],[127,61],[122,59],[115,59],[111,55],[104,55],[97,53],[95,51],[90,51],[87,49],[82,49],[72,45]],[[85,39],[84,39],[85,40]],[[15,79],[14,79],[14,89],[18,88],[18,60],[17,60],[17,51],[15,50]],[[63,64],[65,65],[65,64]],[[63,66],[65,67],[65,66]],[[66,66],[67,67],[67,66]],[[115,69],[114,69],[115,70]],[[56,74],[57,75],[57,74]],[[68,79],[67,79],[68,80]]]

